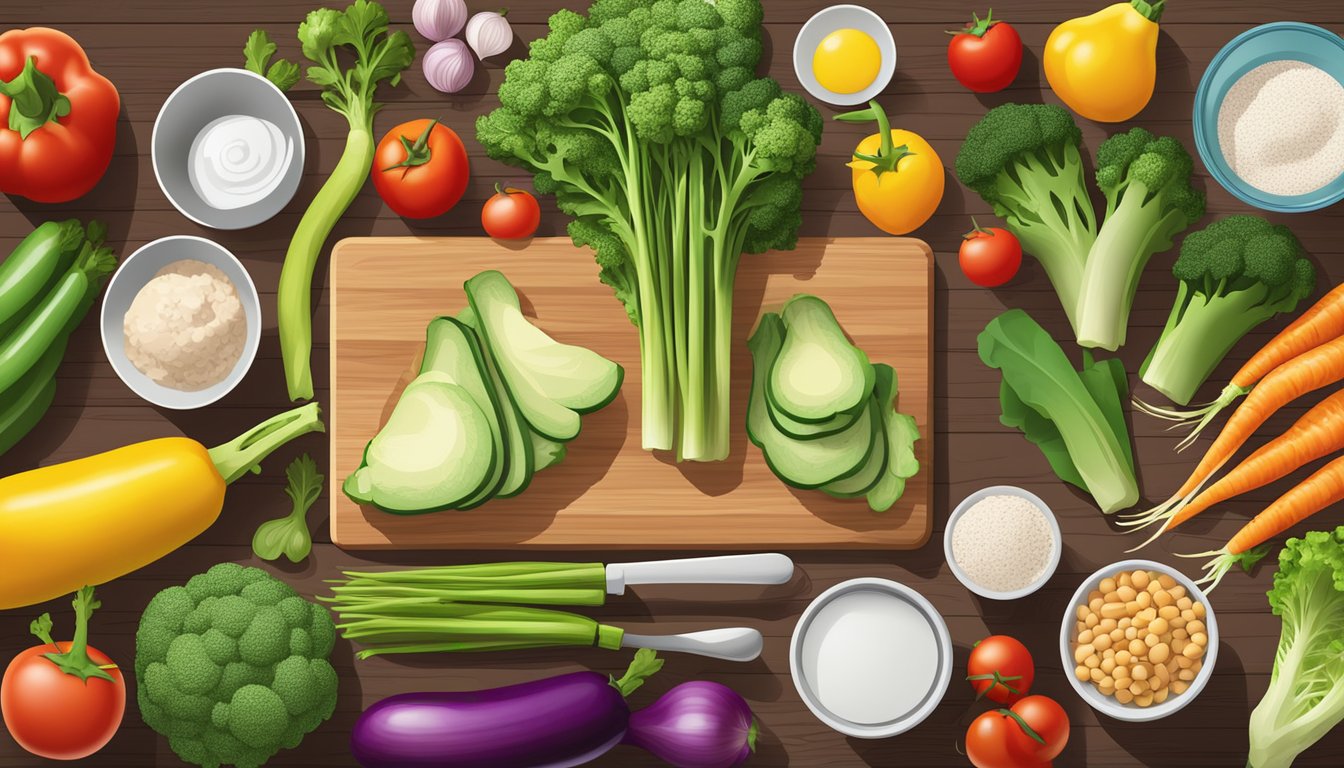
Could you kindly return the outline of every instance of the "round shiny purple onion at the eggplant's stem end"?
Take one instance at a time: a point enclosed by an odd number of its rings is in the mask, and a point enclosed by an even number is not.
[[[746,699],[708,682],[681,683],[633,713],[625,744],[676,768],[734,768],[755,752],[757,722]]]

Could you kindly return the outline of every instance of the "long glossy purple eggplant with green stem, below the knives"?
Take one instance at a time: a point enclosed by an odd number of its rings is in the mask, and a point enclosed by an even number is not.
[[[351,752],[364,768],[569,768],[621,742],[625,697],[663,666],[640,651],[621,679],[571,673],[499,689],[407,693],[364,710]]]

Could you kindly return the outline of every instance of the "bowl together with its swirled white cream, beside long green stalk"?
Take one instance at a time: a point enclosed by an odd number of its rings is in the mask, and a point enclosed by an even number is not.
[[[168,202],[212,229],[257,226],[284,208],[304,175],[304,130],[289,98],[239,69],[200,73],[155,120],[155,178]]]

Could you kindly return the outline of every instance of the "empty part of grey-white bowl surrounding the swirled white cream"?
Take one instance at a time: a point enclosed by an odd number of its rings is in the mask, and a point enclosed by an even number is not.
[[[280,184],[250,206],[219,210],[200,199],[191,184],[191,144],[206,125],[219,117],[246,114],[267,120],[293,144],[293,156]],[[151,139],[155,178],[168,202],[198,225],[238,230],[274,217],[298,190],[304,178],[304,129],[294,106],[269,79],[239,69],[200,73],[172,91],[155,118]]]

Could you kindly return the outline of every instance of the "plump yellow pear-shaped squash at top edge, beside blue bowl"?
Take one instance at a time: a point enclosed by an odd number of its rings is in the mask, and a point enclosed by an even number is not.
[[[1070,109],[1121,122],[1148,105],[1157,82],[1157,20],[1165,0],[1132,0],[1070,19],[1046,40],[1046,79]]]

